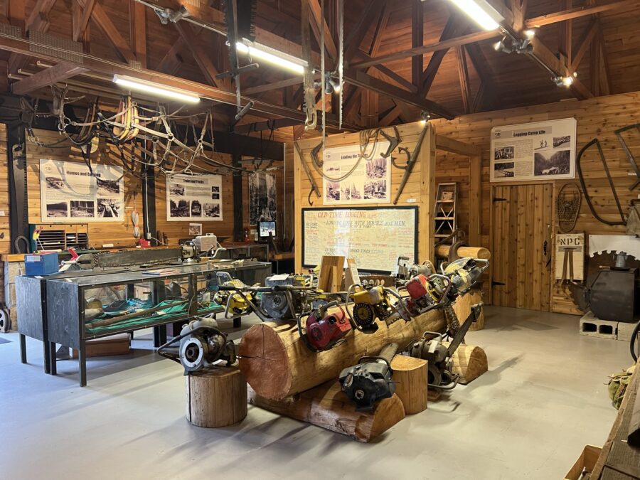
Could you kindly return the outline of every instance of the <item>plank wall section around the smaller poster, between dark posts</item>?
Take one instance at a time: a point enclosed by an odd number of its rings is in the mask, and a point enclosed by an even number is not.
[[[222,161],[225,164],[231,163],[230,154],[210,154],[211,158]],[[204,169],[213,169],[201,162],[196,161],[196,166],[202,166]],[[224,174],[222,178],[222,198],[223,198],[223,220],[180,220],[177,222],[167,220],[166,216],[166,177],[159,174],[156,177],[156,230],[164,233],[169,240],[168,245],[178,245],[181,238],[191,238],[189,235],[189,223],[202,223],[203,233],[215,233],[219,237],[228,237],[233,240],[233,176]],[[247,197],[248,198],[248,197]],[[153,233],[156,237],[156,232]]]

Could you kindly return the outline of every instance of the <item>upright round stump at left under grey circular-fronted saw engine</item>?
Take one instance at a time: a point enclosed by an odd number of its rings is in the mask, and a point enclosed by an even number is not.
[[[186,417],[196,427],[226,427],[247,416],[247,380],[238,367],[190,373],[185,384]]]

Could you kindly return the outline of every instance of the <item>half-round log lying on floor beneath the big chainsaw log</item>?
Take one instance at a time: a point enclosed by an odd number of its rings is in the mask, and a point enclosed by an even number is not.
[[[398,395],[376,403],[370,412],[356,412],[336,380],[283,400],[270,400],[249,388],[249,402],[286,417],[309,422],[331,432],[347,435],[358,442],[370,442],[405,417]]]

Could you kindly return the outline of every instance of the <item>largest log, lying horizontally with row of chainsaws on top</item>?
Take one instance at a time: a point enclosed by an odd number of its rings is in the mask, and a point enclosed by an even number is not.
[[[412,321],[379,325],[375,334],[351,331],[331,350],[314,353],[304,345],[296,324],[265,321],[242,336],[240,370],[258,395],[282,400],[335,380],[343,368],[355,365],[364,355],[377,355],[388,343],[404,348],[424,331],[444,331],[447,322],[442,310],[437,310]]]

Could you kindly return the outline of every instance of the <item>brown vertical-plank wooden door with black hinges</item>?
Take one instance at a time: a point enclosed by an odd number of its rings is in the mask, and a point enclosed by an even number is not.
[[[553,185],[494,186],[492,302],[550,311]]]

